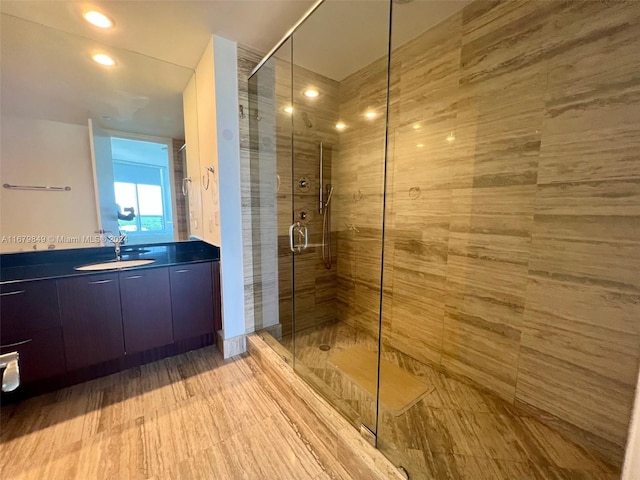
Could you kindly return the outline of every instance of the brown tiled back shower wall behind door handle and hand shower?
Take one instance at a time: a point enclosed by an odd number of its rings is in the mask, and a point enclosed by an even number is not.
[[[284,66],[282,61],[280,65]],[[290,334],[293,326],[291,313],[294,293],[291,282],[294,269],[295,330],[299,332],[336,319],[337,243],[335,238],[332,239],[334,265],[327,269],[322,260],[323,218],[318,208],[320,143],[323,145],[325,185],[331,184],[332,181],[331,165],[338,144],[335,130],[338,118],[338,83],[305,68],[294,66],[292,88],[291,73],[291,67],[287,64],[284,68],[278,69],[276,77],[277,173],[280,178],[280,188],[277,192],[278,276],[279,312],[283,335]],[[320,101],[308,99],[301,94],[309,85],[322,92]],[[283,110],[287,105],[293,107],[291,114]],[[292,145],[293,164],[290,153]],[[300,181],[303,179],[307,181],[306,188],[300,187]],[[300,221],[307,226],[309,247],[292,256],[289,248],[289,225],[294,221]]]

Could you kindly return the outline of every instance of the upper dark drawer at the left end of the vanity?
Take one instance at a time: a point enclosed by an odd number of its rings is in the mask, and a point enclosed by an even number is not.
[[[0,286],[0,343],[55,327],[60,327],[55,280]]]

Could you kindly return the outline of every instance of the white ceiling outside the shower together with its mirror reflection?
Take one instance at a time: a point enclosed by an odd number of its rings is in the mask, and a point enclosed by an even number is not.
[[[266,52],[312,2],[2,0],[2,113],[184,138],[182,91],[211,34]],[[86,23],[89,9],[115,28]],[[89,60],[97,50],[117,66]]]

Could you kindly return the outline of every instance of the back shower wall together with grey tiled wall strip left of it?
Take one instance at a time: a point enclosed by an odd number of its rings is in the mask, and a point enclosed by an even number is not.
[[[282,49],[290,53],[288,44]],[[318,188],[320,142],[324,147],[325,182],[331,182],[331,163],[338,140],[334,129],[338,85],[295,67],[293,89],[298,95],[292,102],[291,64],[276,55],[256,75],[257,91],[248,92],[246,79],[257,61],[256,52],[238,47],[240,103],[247,107],[246,118],[240,120],[246,328],[247,331],[266,328],[279,337],[290,335],[293,327],[294,258],[289,249],[293,210],[296,221],[309,229],[309,247],[295,256],[296,330],[336,318],[336,269],[335,266],[326,269],[322,262]],[[323,92],[322,102],[301,95],[302,89],[310,84]],[[249,95],[252,109],[248,108]],[[284,110],[287,106],[293,106],[293,113]],[[251,139],[250,123],[256,132]],[[298,186],[301,179],[307,181],[306,188]],[[335,264],[335,239],[333,245]]]

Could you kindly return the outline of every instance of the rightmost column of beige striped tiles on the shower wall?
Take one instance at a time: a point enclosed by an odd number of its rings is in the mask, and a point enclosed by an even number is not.
[[[516,394],[615,461],[640,355],[639,23],[636,2],[567,2],[550,27]]]

